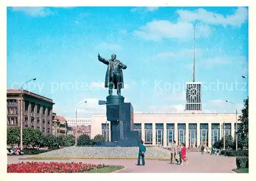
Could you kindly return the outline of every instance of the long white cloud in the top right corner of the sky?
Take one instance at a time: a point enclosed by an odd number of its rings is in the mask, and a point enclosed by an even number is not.
[[[205,9],[197,9],[195,11],[178,10],[180,20],[196,21],[199,20],[211,25],[231,25],[241,26],[248,18],[248,10],[245,7],[239,7],[232,15],[224,17],[222,14],[206,11]]]

